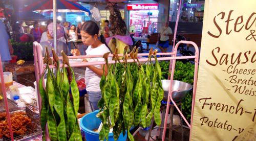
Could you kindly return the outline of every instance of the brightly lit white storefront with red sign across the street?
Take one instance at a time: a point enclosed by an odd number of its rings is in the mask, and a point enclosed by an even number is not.
[[[135,37],[142,37],[147,34],[148,27],[158,21],[158,4],[128,4],[127,5],[128,22],[127,27],[130,33]]]

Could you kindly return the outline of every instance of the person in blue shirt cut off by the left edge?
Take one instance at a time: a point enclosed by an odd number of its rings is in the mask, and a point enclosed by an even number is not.
[[[12,44],[10,42],[9,35],[7,34],[5,24],[0,20],[0,42],[1,49],[0,55],[2,60],[2,67],[5,70],[5,65],[11,60],[11,54],[13,54]]]

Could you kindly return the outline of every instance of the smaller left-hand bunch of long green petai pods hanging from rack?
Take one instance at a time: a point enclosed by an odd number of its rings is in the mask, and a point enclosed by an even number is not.
[[[52,49],[53,60],[50,58],[48,49],[44,58],[47,69],[39,80],[39,91],[41,95],[41,128],[43,131],[43,140],[46,140],[46,127],[48,127],[51,140],[82,140],[77,112],[79,108],[79,90],[75,81],[72,68],[69,65],[69,59],[62,52],[63,64],[69,67],[62,69],[59,67],[59,59]],[[49,65],[55,64],[56,70],[49,68]],[[61,70],[60,70],[61,69]],[[46,87],[42,85],[44,76],[47,72]],[[71,89],[71,96],[70,96]],[[71,98],[73,100],[71,100]]]

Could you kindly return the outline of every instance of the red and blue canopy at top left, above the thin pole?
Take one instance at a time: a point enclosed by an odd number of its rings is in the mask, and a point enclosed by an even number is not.
[[[88,12],[91,14],[90,10],[83,7],[82,5],[76,2],[70,2],[67,0],[57,0],[57,10],[58,12]],[[28,5],[23,12],[28,11],[38,11],[38,12],[47,12],[53,10],[53,0],[39,0],[35,1],[32,4]]]

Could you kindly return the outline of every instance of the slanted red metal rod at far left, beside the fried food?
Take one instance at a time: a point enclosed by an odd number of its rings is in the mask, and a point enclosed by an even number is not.
[[[1,88],[2,88],[2,92],[3,92],[3,95],[4,95],[4,101],[5,101],[5,109],[6,109],[6,116],[7,116],[8,126],[9,126],[9,132],[10,132],[10,135],[11,135],[11,139],[13,141],[14,139],[13,139],[12,125],[11,125],[11,117],[10,117],[8,100],[7,100],[7,96],[6,96],[5,80],[4,80],[4,72],[3,72],[3,67],[2,67],[1,55],[0,55],[0,77],[1,77]]]

